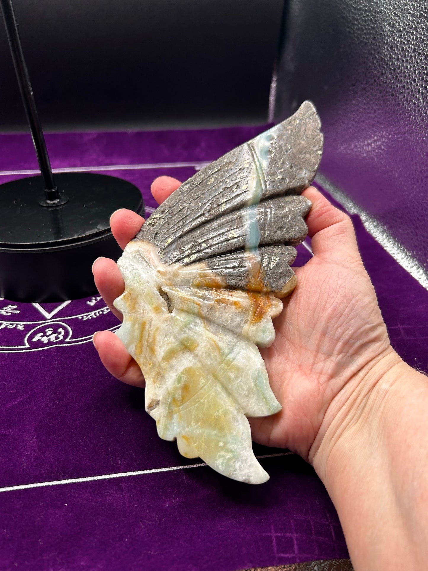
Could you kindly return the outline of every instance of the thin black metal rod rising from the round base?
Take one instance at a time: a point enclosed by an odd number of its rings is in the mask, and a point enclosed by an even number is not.
[[[9,41],[10,52],[12,54],[15,73],[17,74],[19,90],[21,91],[22,101],[29,122],[31,137],[33,138],[34,148],[37,154],[40,171],[45,180],[46,200],[58,201],[59,194],[56,189],[54,175],[52,173],[49,155],[47,154],[45,137],[43,136],[42,126],[37,114],[35,106],[33,88],[31,87],[27,66],[22,51],[21,41],[19,41],[18,23],[15,18],[12,0],[0,0],[3,19],[5,21],[7,40]]]

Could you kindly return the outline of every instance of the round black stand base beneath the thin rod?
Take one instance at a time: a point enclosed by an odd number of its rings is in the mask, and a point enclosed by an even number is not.
[[[122,253],[110,216],[129,208],[144,216],[141,192],[114,176],[86,172],[55,175],[56,207],[43,203],[41,176],[0,186],[0,296],[11,301],[63,301],[96,292],[92,263]],[[63,202],[63,201],[61,201]]]

